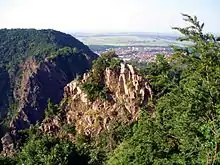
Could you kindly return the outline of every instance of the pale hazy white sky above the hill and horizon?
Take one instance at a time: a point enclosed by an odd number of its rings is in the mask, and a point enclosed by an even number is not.
[[[180,13],[220,32],[220,0],[0,0],[0,28],[66,32],[171,32]]]

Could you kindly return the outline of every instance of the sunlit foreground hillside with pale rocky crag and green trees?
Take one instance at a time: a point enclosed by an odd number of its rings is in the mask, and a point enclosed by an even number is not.
[[[19,147],[0,163],[220,164],[220,43],[183,17],[189,26],[174,29],[192,45],[137,69],[102,55],[59,104],[48,102],[42,123],[18,132]]]

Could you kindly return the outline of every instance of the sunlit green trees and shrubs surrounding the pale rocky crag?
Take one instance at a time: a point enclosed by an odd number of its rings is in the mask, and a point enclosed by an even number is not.
[[[174,29],[182,33],[179,40],[192,45],[174,47],[171,58],[157,55],[152,63],[137,64],[153,90],[137,121],[113,121],[93,137],[65,125],[74,143],[42,134],[35,125],[21,131],[24,138],[17,153],[2,156],[0,164],[220,164],[220,44],[214,35],[203,33],[197,17],[183,17],[189,26]],[[97,80],[103,69],[119,65],[112,52],[94,61],[93,79],[84,84],[91,101],[105,95]],[[62,116],[61,107],[49,102],[46,111]]]

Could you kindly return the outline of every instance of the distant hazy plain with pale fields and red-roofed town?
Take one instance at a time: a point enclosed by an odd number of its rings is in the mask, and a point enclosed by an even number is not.
[[[116,33],[116,34],[73,34],[89,45],[97,54],[115,50],[123,60],[153,61],[156,54],[169,57],[171,45],[185,46],[189,43],[177,40],[179,36],[157,33]]]

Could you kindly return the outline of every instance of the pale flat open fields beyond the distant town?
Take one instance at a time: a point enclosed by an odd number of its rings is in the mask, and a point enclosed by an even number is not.
[[[117,34],[117,35],[74,35],[77,39],[87,45],[108,46],[156,46],[168,47],[171,45],[184,46],[189,43],[176,41],[178,37],[147,34]]]

